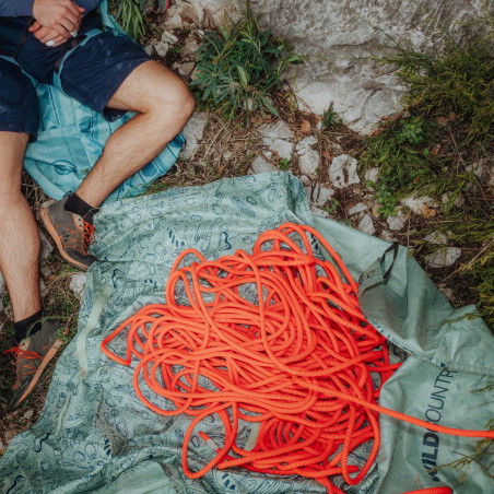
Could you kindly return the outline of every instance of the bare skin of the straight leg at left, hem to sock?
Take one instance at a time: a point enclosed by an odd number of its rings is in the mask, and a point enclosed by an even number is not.
[[[0,131],[0,270],[14,321],[40,309],[39,235],[33,212],[21,193],[21,174],[28,136]]]

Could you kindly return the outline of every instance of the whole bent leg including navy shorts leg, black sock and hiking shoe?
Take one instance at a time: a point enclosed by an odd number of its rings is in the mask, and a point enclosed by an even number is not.
[[[74,193],[40,210],[61,256],[86,269],[93,210],[128,177],[155,157],[193,111],[186,84],[121,36],[101,33],[64,60],[63,91],[96,111],[136,111],[107,140],[103,154]],[[118,111],[117,111],[118,110]]]

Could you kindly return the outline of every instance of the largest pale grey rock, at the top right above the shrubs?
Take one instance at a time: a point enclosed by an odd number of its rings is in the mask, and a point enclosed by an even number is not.
[[[239,5],[243,0],[231,3]],[[251,0],[250,4],[255,14],[261,13],[262,27],[272,28],[277,37],[293,43],[296,52],[308,56],[294,81],[308,109],[321,115],[333,102],[344,122],[363,133],[402,108],[407,89],[395,69],[375,61],[389,55],[389,36],[398,46],[440,52],[468,20],[485,15],[484,0],[416,0],[399,7],[338,0]]]

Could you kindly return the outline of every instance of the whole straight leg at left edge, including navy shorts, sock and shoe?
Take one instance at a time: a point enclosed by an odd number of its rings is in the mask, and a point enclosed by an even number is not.
[[[14,313],[13,405],[22,403],[57,353],[58,324],[44,320],[39,294],[39,234],[21,192],[24,152],[36,137],[38,101],[19,67],[0,57],[0,270]]]

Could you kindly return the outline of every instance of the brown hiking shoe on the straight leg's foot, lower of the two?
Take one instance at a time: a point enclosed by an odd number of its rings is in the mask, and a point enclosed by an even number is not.
[[[19,346],[3,352],[16,356],[13,408],[17,408],[31,395],[49,361],[58,352],[62,342],[56,338],[57,329],[57,322],[47,320],[37,333],[24,338]]]

